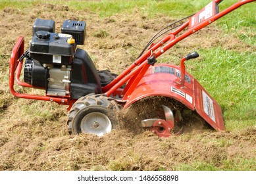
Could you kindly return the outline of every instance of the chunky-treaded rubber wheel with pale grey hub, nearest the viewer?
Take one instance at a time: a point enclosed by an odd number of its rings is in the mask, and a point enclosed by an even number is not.
[[[68,133],[92,133],[103,136],[118,124],[119,106],[115,99],[103,95],[86,95],[74,103],[68,114]]]

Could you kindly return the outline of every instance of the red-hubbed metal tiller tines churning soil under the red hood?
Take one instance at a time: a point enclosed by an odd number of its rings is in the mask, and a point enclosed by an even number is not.
[[[174,116],[170,108],[165,105],[162,106],[165,112],[165,120],[157,118],[141,120],[141,127],[151,127],[150,131],[157,134],[159,137],[170,137],[170,135],[172,135],[171,131],[174,129]],[[177,117],[175,116],[175,120],[176,119],[179,121],[182,119],[180,113]]]

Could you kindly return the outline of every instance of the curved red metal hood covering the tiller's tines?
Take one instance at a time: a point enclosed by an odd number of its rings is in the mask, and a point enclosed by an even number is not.
[[[184,86],[180,81],[180,67],[172,64],[150,66],[143,78],[127,97],[124,108],[145,97],[170,97],[185,104],[217,131],[224,131],[221,108],[209,93],[186,72]]]

